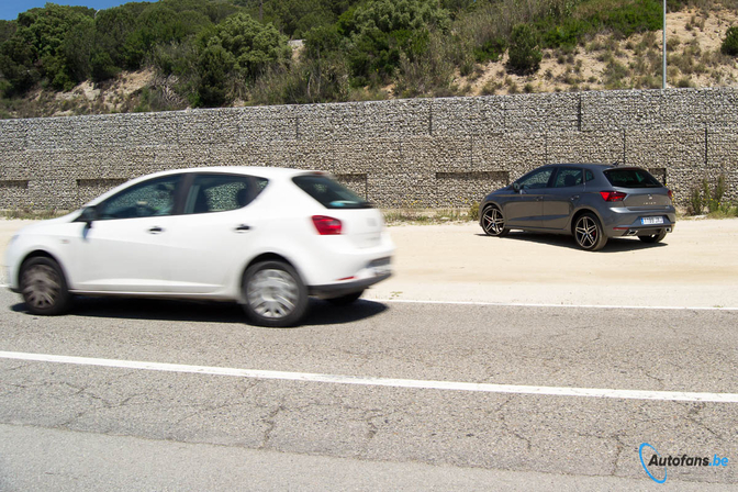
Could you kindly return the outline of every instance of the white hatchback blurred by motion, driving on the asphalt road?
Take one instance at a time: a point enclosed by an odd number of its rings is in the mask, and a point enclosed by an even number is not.
[[[357,300],[391,275],[381,213],[317,171],[211,167],[124,183],[20,231],[10,288],[34,314],[74,294],[230,300],[262,326],[291,326],[308,297]]]

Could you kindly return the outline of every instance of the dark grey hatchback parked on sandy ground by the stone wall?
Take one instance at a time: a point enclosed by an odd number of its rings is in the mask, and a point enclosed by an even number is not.
[[[480,211],[490,236],[511,230],[570,234],[591,251],[610,237],[658,243],[677,222],[671,190],[647,170],[604,164],[539,167],[488,194]]]

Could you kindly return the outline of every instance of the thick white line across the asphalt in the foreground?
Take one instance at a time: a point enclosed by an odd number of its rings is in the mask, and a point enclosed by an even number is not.
[[[424,381],[415,379],[371,378],[360,376],[318,374],[310,372],[262,371],[226,367],[187,366],[180,364],[142,362],[134,360],[98,359],[49,354],[0,351],[1,359],[31,360],[36,362],[74,364],[80,366],[112,367],[165,372],[232,376],[237,378],[277,379],[302,382],[327,382],[334,384],[361,384],[370,387],[412,388],[422,390],[451,390],[487,393],[537,394],[551,396],[614,398],[624,400],[658,400],[675,402],[738,403],[737,393],[694,393],[682,391],[640,391],[596,388],[557,388],[519,384],[490,384],[455,381]]]

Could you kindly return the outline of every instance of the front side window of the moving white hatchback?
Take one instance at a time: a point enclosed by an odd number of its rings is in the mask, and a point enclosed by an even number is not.
[[[114,194],[98,205],[98,220],[171,215],[180,175],[149,179]]]

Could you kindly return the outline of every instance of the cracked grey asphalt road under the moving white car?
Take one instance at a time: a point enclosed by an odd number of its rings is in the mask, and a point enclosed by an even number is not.
[[[723,490],[738,482],[738,403],[667,393],[738,393],[738,311],[311,308],[301,327],[266,329],[244,324],[230,304],[87,299],[71,315],[44,318],[0,293],[3,353],[292,373],[0,356],[0,490]],[[535,394],[551,387],[592,392]],[[624,391],[589,395],[601,389]],[[667,467],[658,485],[640,465],[642,443],[661,457],[729,461]]]

